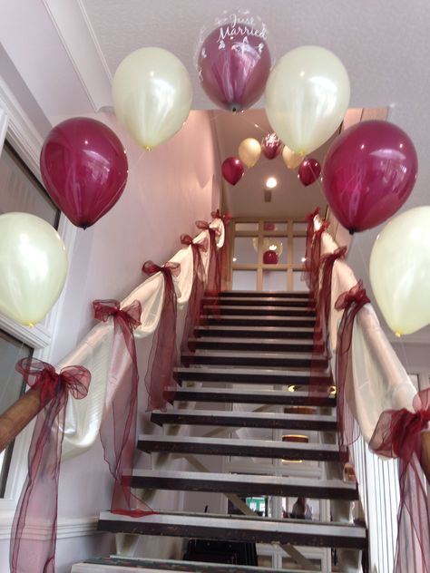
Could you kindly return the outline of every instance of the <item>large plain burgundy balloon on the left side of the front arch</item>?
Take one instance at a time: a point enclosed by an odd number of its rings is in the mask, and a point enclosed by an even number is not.
[[[49,132],[40,156],[44,185],[76,227],[87,228],[120,199],[128,163],[122,142],[101,121],[73,118]]]

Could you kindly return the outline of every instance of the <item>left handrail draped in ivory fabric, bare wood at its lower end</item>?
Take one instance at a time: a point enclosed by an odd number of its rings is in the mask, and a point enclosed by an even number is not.
[[[222,219],[213,219],[211,228],[220,229],[217,236],[217,247],[221,248],[225,239],[225,228]],[[194,238],[194,242],[208,241],[209,231],[204,230]],[[210,261],[210,249],[202,252],[202,262],[207,275]],[[181,265],[181,274],[174,279],[175,291],[178,297],[178,307],[185,306],[191,295],[193,277],[191,246],[181,248],[170,262]],[[160,319],[161,301],[164,281],[161,273],[156,273],[144,280],[126,296],[121,306],[127,306],[134,300],[142,304],[142,325],[134,330],[136,339],[151,335]],[[91,304],[91,301],[89,301]],[[73,351],[56,364],[57,371],[72,364],[82,364],[92,373],[92,384],[88,395],[83,400],[75,400],[70,396],[64,425],[64,441],[62,459],[74,457],[86,452],[96,441],[103,414],[108,411],[112,402],[112,390],[106,391],[110,351],[113,340],[112,322],[98,323]],[[41,401],[40,391],[31,388],[0,415],[0,452],[15,440],[16,436],[34,419],[46,403]]]

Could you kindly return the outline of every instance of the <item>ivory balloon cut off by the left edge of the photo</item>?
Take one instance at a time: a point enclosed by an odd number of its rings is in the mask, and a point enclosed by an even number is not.
[[[63,290],[67,255],[56,230],[28,213],[0,215],[0,312],[35,325]]]

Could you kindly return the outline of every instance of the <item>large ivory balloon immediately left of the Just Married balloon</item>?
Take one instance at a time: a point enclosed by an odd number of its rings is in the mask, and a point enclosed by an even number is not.
[[[191,109],[190,74],[173,53],[141,48],[122,60],[112,82],[118,120],[146,150],[179,131]]]

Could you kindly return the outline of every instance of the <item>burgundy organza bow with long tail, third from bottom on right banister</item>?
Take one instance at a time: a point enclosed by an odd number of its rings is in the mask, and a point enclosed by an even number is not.
[[[331,310],[331,279],[333,266],[339,258],[344,258],[347,252],[346,247],[337,248],[333,253],[323,255],[319,261],[318,276],[321,277],[321,286],[317,299],[317,321],[314,329],[314,340],[312,348],[312,361],[310,365],[310,376],[308,395],[315,400],[324,399],[330,391],[330,384],[321,384],[321,359],[324,356],[330,358],[329,345],[329,320]]]

